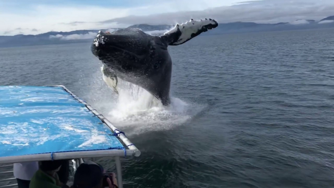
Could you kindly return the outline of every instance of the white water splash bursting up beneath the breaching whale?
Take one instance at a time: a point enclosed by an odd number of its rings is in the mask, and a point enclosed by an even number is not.
[[[92,88],[87,90],[92,93],[82,97],[127,135],[172,129],[189,121],[206,107],[175,97],[171,97],[169,106],[163,106],[143,88],[119,78],[116,94],[101,79],[101,72],[93,76],[89,79],[93,82],[89,84]]]

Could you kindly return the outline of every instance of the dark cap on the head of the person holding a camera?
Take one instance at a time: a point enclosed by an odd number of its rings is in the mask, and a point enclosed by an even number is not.
[[[101,165],[88,161],[82,163],[74,173],[74,188],[93,188],[97,186],[104,176]]]

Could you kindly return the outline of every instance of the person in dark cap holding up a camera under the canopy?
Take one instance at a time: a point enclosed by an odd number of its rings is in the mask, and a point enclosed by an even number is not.
[[[101,165],[88,161],[82,163],[74,173],[74,182],[71,188],[118,188],[116,175],[111,172],[105,174]]]

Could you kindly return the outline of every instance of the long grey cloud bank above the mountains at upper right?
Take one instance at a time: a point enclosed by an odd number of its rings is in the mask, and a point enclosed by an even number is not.
[[[186,20],[212,18],[220,23],[253,21],[258,23],[291,22],[297,19],[320,20],[334,14],[334,0],[261,0],[203,11],[183,11],[146,16],[128,16],[104,21],[122,24],[174,24]]]

